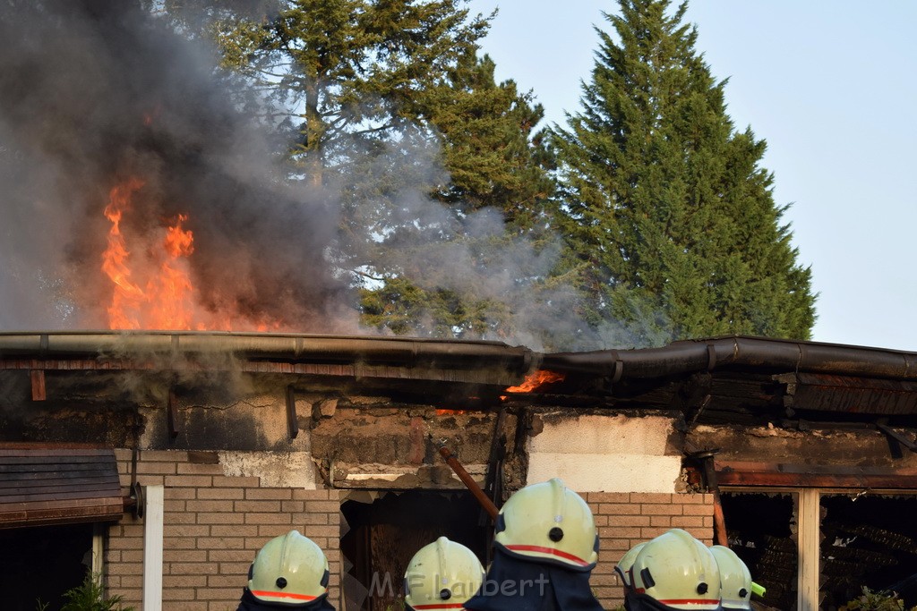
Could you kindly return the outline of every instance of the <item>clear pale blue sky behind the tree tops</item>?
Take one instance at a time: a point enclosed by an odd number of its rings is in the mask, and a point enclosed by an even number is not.
[[[561,7],[562,8],[558,8]],[[499,9],[482,49],[565,125],[580,110],[602,12],[616,0],[470,0]],[[736,129],[768,143],[774,201],[790,204],[812,267],[812,341],[917,352],[917,2],[693,0],[687,20],[725,86]]]

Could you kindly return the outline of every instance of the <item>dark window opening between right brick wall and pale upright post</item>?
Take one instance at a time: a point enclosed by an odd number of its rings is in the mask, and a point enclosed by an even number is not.
[[[797,547],[793,496],[724,492],[729,547],[756,584],[767,592],[755,600],[779,609],[796,606]]]

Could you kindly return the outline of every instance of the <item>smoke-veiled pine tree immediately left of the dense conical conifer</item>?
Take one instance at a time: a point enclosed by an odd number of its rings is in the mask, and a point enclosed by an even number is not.
[[[543,289],[548,266],[538,254],[549,247],[545,206],[555,190],[547,151],[534,133],[543,111],[514,82],[495,82],[493,71],[492,60],[469,55],[418,95],[420,115],[442,142],[449,178],[430,180],[429,191],[444,213],[375,225],[384,238],[367,258],[381,285],[362,291],[363,321],[370,326],[506,339],[517,331],[512,302],[522,291]],[[377,173],[403,181],[410,169],[388,166]],[[370,213],[397,211],[399,191],[384,191],[392,193],[390,206],[379,205],[378,193],[357,202],[369,202]]]

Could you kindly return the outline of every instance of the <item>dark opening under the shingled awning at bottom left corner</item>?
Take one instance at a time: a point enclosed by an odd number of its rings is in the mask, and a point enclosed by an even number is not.
[[[0,592],[5,611],[60,611],[63,593],[92,567],[93,525],[0,529]]]

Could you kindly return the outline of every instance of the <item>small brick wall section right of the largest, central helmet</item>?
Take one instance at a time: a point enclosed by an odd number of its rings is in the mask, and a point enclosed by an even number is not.
[[[614,572],[624,553],[668,529],[685,529],[707,545],[713,543],[713,496],[636,492],[587,492],[599,529],[599,564],[592,591],[606,609],[624,604],[624,590]]]

